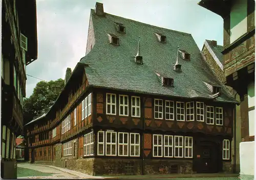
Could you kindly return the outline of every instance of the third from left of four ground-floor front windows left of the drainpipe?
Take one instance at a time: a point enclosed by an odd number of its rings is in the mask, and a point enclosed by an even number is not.
[[[118,156],[129,156],[129,133],[118,133]]]

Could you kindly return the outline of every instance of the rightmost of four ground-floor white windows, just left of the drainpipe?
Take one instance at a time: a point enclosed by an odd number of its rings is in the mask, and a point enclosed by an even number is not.
[[[130,133],[130,156],[140,156],[140,134]]]

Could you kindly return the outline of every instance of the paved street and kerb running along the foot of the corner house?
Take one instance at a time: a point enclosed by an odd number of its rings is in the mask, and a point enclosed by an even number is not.
[[[238,174],[168,174],[168,175],[120,175],[92,176],[56,166],[18,163],[19,179],[178,179],[178,180],[238,180]],[[179,177],[177,177],[179,176]],[[190,176],[190,177],[189,177]]]

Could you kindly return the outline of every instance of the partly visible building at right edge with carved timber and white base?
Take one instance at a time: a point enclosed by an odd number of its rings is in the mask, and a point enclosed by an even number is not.
[[[254,174],[254,157],[246,149],[254,149],[254,61],[255,61],[255,1],[200,1],[200,6],[220,15],[224,20],[223,51],[225,84],[240,96],[241,175]],[[221,7],[221,8],[220,8]],[[249,152],[249,151],[248,151]],[[253,152],[253,150],[251,151]],[[248,165],[248,167],[247,167]],[[250,178],[248,176],[248,178]],[[253,178],[253,177],[251,177]]]

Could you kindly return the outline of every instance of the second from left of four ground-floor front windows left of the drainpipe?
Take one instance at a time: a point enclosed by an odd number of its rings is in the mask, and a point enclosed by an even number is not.
[[[106,132],[106,156],[116,156],[116,132]]]

